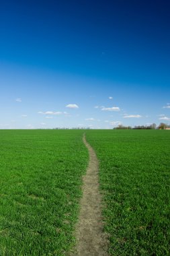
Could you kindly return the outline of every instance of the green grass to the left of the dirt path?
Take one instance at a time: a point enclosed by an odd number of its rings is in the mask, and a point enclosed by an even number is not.
[[[0,131],[0,255],[65,255],[75,245],[83,131]]]

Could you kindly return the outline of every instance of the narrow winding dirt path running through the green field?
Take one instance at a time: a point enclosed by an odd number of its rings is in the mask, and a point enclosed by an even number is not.
[[[83,135],[89,150],[89,166],[83,177],[83,197],[77,224],[77,256],[106,256],[107,238],[103,234],[101,197],[98,183],[98,161],[95,152]]]

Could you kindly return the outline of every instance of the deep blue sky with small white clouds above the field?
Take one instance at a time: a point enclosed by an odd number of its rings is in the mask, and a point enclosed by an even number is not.
[[[1,1],[0,129],[169,124],[169,9]]]

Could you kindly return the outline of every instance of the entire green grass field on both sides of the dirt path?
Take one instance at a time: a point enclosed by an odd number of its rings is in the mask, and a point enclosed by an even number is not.
[[[1,130],[0,255],[67,255],[88,152],[99,159],[110,255],[169,255],[170,132]]]

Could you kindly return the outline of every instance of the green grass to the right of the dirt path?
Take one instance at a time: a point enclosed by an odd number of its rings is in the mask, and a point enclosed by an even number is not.
[[[169,131],[87,131],[110,255],[170,255]]]

